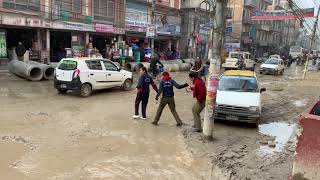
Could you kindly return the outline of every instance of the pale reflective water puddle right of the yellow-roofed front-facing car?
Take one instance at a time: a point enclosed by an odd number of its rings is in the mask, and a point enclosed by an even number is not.
[[[259,125],[259,132],[266,136],[274,137],[274,140],[270,140],[268,142],[269,144],[261,145],[258,149],[258,155],[273,155],[276,152],[281,152],[289,141],[295,127],[295,124],[288,124],[284,122]]]

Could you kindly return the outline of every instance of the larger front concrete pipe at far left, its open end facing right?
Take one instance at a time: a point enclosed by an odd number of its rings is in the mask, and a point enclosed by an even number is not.
[[[40,81],[43,78],[43,71],[41,68],[22,61],[10,61],[8,64],[8,69],[11,73],[31,81]]]

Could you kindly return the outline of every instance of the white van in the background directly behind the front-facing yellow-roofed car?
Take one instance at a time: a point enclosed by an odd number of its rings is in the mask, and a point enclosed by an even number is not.
[[[239,68],[238,61],[241,56],[244,59],[245,69],[254,70],[255,62],[254,60],[251,59],[251,54],[249,52],[237,52],[237,51],[230,52],[229,57],[226,58],[226,62],[222,64],[222,67],[225,68],[226,70],[238,69]]]

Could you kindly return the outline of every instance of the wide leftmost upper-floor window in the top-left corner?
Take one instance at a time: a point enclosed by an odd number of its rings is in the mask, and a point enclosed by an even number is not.
[[[40,0],[3,0],[3,8],[40,12]]]

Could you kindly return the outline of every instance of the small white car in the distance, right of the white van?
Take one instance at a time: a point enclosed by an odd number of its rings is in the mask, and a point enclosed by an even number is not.
[[[282,75],[284,73],[284,62],[282,59],[268,59],[260,66],[260,74]]]

